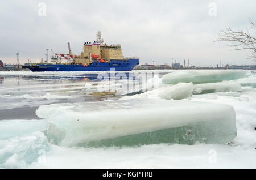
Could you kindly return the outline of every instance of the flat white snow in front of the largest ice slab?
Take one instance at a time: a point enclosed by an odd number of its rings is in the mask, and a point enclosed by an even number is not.
[[[216,155],[214,155],[216,153]],[[214,160],[216,157],[216,160]],[[229,145],[151,144],[123,148],[52,147],[28,168],[255,168],[255,152]]]

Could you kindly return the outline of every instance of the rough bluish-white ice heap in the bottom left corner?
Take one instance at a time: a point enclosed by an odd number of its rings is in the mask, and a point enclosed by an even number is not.
[[[49,145],[43,132],[0,138],[0,168],[26,168],[36,161],[43,163]]]

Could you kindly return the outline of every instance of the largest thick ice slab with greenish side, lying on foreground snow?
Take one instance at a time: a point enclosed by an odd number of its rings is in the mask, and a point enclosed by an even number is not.
[[[225,144],[236,137],[232,106],[187,100],[143,103],[147,105],[141,108],[91,112],[79,110],[76,104],[52,104],[40,106],[36,114],[63,132],[61,145]],[[54,133],[48,133],[48,139]]]

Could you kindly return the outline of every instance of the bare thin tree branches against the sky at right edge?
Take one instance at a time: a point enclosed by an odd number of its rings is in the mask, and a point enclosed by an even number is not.
[[[229,42],[228,46],[232,47],[234,50],[250,50],[251,55],[250,59],[256,61],[256,20],[249,20],[250,29],[253,31],[253,35],[247,28],[247,32],[244,32],[242,29],[234,31],[230,27],[226,27],[218,32],[217,41],[226,41]]]

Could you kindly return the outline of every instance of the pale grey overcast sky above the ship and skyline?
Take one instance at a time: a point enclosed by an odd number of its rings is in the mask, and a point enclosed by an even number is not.
[[[40,2],[46,5],[45,16]],[[246,29],[249,18],[256,18],[255,0],[2,1],[0,59],[14,63],[19,52],[22,63],[39,62],[47,48],[68,53],[67,42],[79,55],[84,41],[96,40],[100,30],[106,43],[121,44],[123,55],[135,55],[141,64],[171,63],[172,58],[201,66],[216,66],[220,60],[252,64],[248,52],[214,42],[218,30]]]

